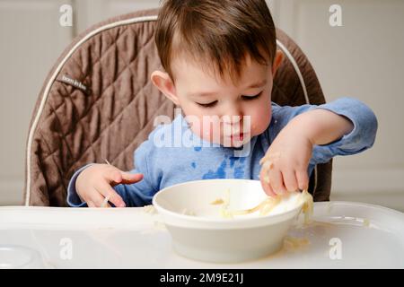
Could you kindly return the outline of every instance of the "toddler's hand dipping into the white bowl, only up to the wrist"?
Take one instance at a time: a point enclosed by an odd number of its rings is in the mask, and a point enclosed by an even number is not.
[[[286,126],[259,161],[262,164],[259,179],[268,196],[307,189],[307,168],[311,157],[310,139]]]

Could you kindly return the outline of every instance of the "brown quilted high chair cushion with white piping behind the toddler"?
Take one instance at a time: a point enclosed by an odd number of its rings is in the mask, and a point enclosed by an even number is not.
[[[148,10],[101,22],[59,57],[31,119],[26,205],[66,206],[69,179],[86,163],[108,160],[131,170],[133,152],[154,129],[154,117],[173,117],[174,105],[150,81],[150,74],[162,69],[154,46],[155,17],[150,18],[156,14]],[[303,74],[310,102],[324,103],[320,83],[301,49],[281,30],[277,38]],[[272,97],[280,105],[306,103],[287,57],[277,72]],[[316,171],[310,191],[317,201],[329,200],[331,162]]]

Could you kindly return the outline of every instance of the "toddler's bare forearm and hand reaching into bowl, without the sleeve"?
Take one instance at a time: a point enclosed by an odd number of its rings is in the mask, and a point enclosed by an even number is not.
[[[313,109],[294,117],[277,135],[259,161],[262,187],[269,196],[307,189],[307,169],[314,144],[328,144],[347,135],[354,124],[326,109]]]

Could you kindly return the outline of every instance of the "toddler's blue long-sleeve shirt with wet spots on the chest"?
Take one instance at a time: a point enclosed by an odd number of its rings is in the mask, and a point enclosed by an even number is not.
[[[347,117],[354,129],[333,143],[313,147],[309,175],[317,163],[372,147],[377,119],[363,102],[352,98],[341,98],[319,106],[281,107],[272,103],[272,119],[267,130],[253,136],[250,143],[246,143],[249,146],[245,144],[239,149],[202,140],[190,132],[187,121],[179,115],[171,124],[157,126],[134,152],[136,168],[130,172],[143,173],[144,178],[135,184],[118,185],[114,189],[127,206],[143,206],[151,204],[154,194],[162,188],[181,182],[210,178],[259,179],[259,160],[270,143],[293,117],[312,109],[328,109]],[[86,167],[77,170],[69,182],[67,203],[70,206],[86,206],[75,191],[75,180]]]

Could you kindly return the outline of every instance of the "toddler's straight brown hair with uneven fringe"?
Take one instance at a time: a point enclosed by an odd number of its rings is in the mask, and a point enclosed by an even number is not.
[[[272,65],[277,43],[265,0],[165,0],[155,43],[162,67],[171,76],[171,60],[181,52],[223,77],[240,77],[245,57]]]

